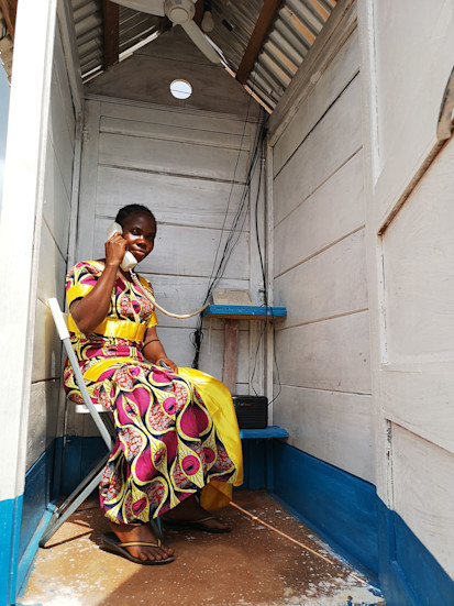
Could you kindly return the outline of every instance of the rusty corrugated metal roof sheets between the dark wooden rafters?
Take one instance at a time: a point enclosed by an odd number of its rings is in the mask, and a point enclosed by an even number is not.
[[[270,110],[276,106],[336,0],[285,0],[265,37],[246,86]],[[211,0],[209,34],[236,74],[264,0]],[[85,80],[103,69],[102,0],[73,0],[80,66]],[[120,7],[120,53],[159,33],[159,18]]]

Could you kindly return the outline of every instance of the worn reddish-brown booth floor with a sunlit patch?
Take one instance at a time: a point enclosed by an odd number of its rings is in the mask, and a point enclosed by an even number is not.
[[[88,500],[38,551],[18,606],[385,604],[362,574],[272,496],[237,491],[234,500],[259,520],[229,506],[221,511],[232,525],[229,535],[167,531],[176,559],[162,566],[102,551],[106,522],[97,502]]]

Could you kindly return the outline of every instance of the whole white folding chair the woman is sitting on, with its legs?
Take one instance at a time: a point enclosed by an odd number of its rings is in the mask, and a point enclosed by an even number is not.
[[[109,454],[113,448],[114,439],[111,436],[107,425],[102,420],[100,412],[108,412],[108,409],[100,404],[95,405],[88,394],[87,386],[85,384],[82,374],[79,368],[79,364],[74,353],[73,345],[69,338],[68,327],[66,324],[66,316],[62,312],[58,301],[55,298],[48,299],[47,305],[51,308],[52,316],[58,335],[63,341],[66,350],[69,363],[74,371],[74,376],[79,387],[80,394],[84,399],[84,404],[75,404],[75,410],[79,414],[89,412],[93,419],[99,432],[106,442],[109,450]],[[87,477],[73,491],[73,493],[53,511],[53,515],[43,532],[40,540],[40,547],[44,547],[56,530],[68,519],[68,517],[79,507],[81,503],[97,488],[101,481],[102,471],[106,466],[109,454],[102,459],[102,461],[87,475]]]

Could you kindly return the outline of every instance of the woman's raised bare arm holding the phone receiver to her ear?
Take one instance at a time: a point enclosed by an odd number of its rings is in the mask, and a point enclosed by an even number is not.
[[[106,242],[106,265],[101,276],[92,290],[81,299],[73,301],[69,307],[77,328],[84,334],[91,334],[108,315],[117,271],[125,249],[126,241],[118,233]]]

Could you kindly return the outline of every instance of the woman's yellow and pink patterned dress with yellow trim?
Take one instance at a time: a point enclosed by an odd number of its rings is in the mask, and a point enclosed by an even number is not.
[[[102,271],[102,263],[87,261],[68,272],[68,306],[93,288]],[[99,488],[104,515],[117,524],[147,522],[202,488],[202,506],[214,509],[229,502],[232,484],[242,482],[230,394],[204,373],[180,368],[175,374],[147,362],[143,338],[156,323],[148,299],[120,277],[108,316],[92,334],[78,332],[69,317],[88,392],[95,404],[112,411],[117,428]],[[68,397],[81,401],[69,364],[64,384]]]

